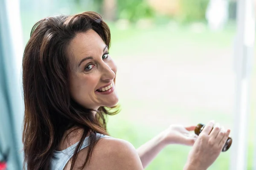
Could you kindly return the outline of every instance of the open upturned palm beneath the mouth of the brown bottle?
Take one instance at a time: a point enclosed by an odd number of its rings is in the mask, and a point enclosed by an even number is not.
[[[189,131],[195,130],[195,126],[184,127],[183,125],[170,125],[164,133],[164,142],[166,144],[184,144],[192,146],[197,139],[195,133]]]

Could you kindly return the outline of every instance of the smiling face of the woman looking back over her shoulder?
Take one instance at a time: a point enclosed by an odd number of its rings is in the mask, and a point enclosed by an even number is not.
[[[95,31],[78,33],[71,41],[70,94],[85,108],[117,104],[116,65],[108,55],[108,46]]]

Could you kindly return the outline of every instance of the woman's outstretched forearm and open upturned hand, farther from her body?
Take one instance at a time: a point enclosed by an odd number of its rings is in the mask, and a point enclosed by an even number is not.
[[[168,129],[143,144],[137,149],[143,168],[145,168],[157,154],[168,144],[184,144],[192,146],[197,138],[189,131],[195,126],[184,127],[182,125],[171,125]]]

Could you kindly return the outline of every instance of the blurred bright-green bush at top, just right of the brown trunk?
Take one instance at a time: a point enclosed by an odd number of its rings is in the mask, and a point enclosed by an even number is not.
[[[154,16],[154,10],[145,0],[117,0],[117,17],[132,22]]]

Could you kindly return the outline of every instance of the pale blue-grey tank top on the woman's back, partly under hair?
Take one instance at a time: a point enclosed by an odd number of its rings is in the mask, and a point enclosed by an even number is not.
[[[112,138],[110,136],[106,136],[106,135],[102,135],[100,133],[97,133],[97,138]],[[88,141],[89,140],[89,136],[87,136],[84,139],[84,142],[81,146],[81,149],[84,149],[85,147],[88,146]],[[66,166],[67,162],[70,160],[70,158],[72,158],[72,156],[74,155],[74,151],[76,150],[76,146],[78,145],[79,142],[71,145],[70,147],[68,147],[67,149],[61,150],[61,151],[54,151],[51,162],[50,162],[50,170],[63,170],[64,167]],[[79,151],[80,151],[79,150]]]

